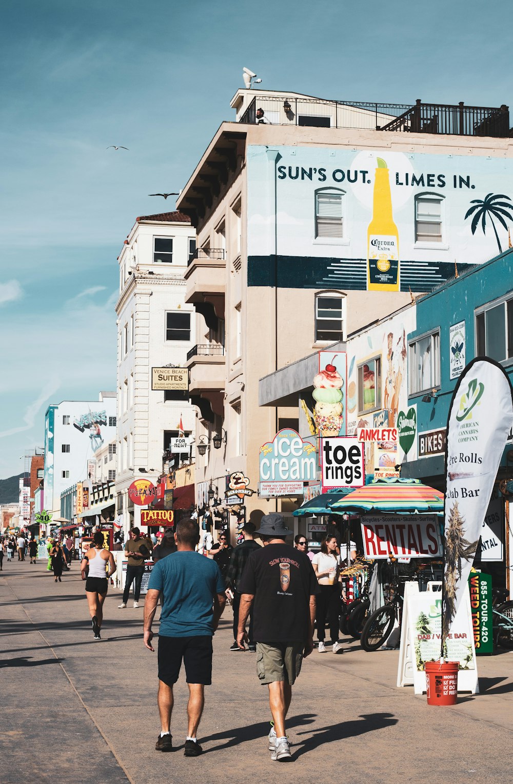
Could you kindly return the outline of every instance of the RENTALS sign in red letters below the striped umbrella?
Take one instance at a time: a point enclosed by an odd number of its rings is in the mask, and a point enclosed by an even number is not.
[[[437,558],[442,556],[438,518],[435,514],[371,514],[362,517],[366,558]]]

